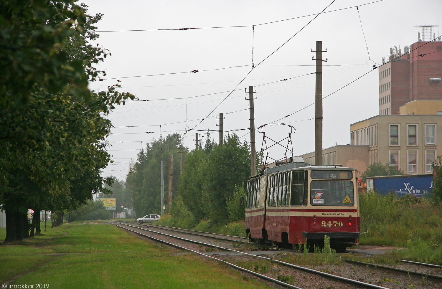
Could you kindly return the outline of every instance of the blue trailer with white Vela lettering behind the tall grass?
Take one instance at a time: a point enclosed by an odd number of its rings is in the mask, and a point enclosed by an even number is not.
[[[398,197],[406,194],[422,197],[428,195],[432,188],[432,174],[388,175],[367,178],[367,189],[383,195],[395,191]]]

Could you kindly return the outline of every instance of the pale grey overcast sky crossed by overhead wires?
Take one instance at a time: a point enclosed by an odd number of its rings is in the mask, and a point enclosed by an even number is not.
[[[139,150],[160,135],[184,134],[193,128],[217,129],[219,113],[224,114],[225,130],[250,127],[248,95],[244,93],[249,85],[257,92],[255,127],[292,114],[278,123],[295,127],[294,155],[314,151],[311,118],[315,111],[314,105],[309,105],[315,99],[315,75],[311,74],[315,72],[311,60],[315,53],[311,49],[315,50],[316,41],[322,41],[323,50],[327,49],[323,56],[328,58],[323,62],[324,96],[371,71],[324,99],[324,148],[348,144],[350,124],[378,114],[378,69],[373,70],[373,64],[381,64],[382,57],[387,59],[389,48],[397,46],[403,51],[404,46],[416,42],[416,25],[442,24],[440,0],[383,0],[372,4],[367,3],[373,0],[335,0],[324,11],[330,12],[316,19],[312,14],[324,10],[332,0],[84,2],[89,6],[88,14],[103,14],[98,31],[152,30],[98,32],[100,38],[93,42],[109,49],[112,56],[99,67],[107,71],[107,80],[89,87],[103,90],[119,79],[121,91],[140,100],[149,99],[126,102],[109,115],[115,128],[107,140],[115,163],[103,175],[119,179],[125,179],[128,163],[136,160]],[[359,10],[350,8],[355,5]],[[338,9],[343,10],[333,11]],[[285,19],[290,20],[279,21]],[[274,21],[279,22],[263,24]],[[226,26],[245,27],[157,30]],[[436,36],[439,29],[433,27]],[[262,63],[251,71],[252,53],[255,65]],[[230,68],[233,66],[242,67]],[[211,69],[219,70],[202,71]],[[146,76],[156,74],[166,75]],[[229,95],[236,86],[239,90]],[[264,131],[275,140],[287,137],[289,132],[282,125],[268,125]],[[204,132],[199,133],[204,141]],[[250,141],[247,130],[236,133]],[[218,142],[218,132],[213,132],[212,138]],[[193,150],[194,139],[195,131],[184,134],[184,146]],[[256,133],[257,151],[261,144],[262,134]],[[270,153],[274,158],[283,156],[280,149]]]

